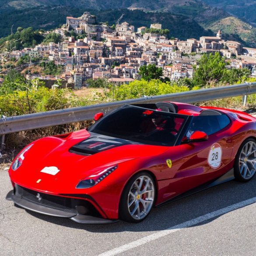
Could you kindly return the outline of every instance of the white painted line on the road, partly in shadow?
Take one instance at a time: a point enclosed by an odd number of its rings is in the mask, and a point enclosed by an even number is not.
[[[239,203],[232,204],[228,207],[224,207],[220,210],[213,211],[211,213],[208,213],[208,214],[205,214],[203,216],[197,217],[193,220],[186,221],[186,222],[183,222],[183,223],[178,224],[176,226],[173,226],[171,228],[167,228],[167,229],[159,231],[157,233],[145,236],[144,238],[140,238],[138,240],[135,240],[135,241],[130,242],[128,244],[125,244],[125,245],[122,245],[120,247],[114,248],[114,249],[109,250],[107,252],[103,252],[102,254],[99,254],[98,256],[113,256],[113,255],[116,255],[118,253],[125,252],[127,250],[132,249],[132,248],[138,247],[140,245],[144,245],[145,243],[151,242],[151,241],[156,240],[158,238],[161,238],[163,236],[166,236],[166,235],[169,235],[169,234],[174,233],[176,231],[179,231],[182,228],[189,228],[189,227],[191,227],[193,225],[196,225],[196,224],[199,224],[203,221],[207,221],[211,218],[218,217],[222,214],[226,214],[226,213],[228,213],[232,210],[236,210],[238,208],[245,207],[245,206],[247,206],[249,204],[252,204],[252,203],[256,203],[256,197],[253,197],[251,199],[248,199],[248,200],[245,200],[245,201],[242,201],[242,202],[239,202]]]

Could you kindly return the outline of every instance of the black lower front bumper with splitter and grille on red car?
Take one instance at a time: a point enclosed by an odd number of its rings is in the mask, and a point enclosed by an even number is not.
[[[38,193],[17,184],[14,190],[7,194],[6,199],[14,201],[26,210],[54,217],[70,218],[82,224],[110,224],[118,221],[102,218],[95,207],[86,200]]]

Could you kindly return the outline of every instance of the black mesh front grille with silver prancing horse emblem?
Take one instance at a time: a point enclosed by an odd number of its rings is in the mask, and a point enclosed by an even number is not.
[[[15,185],[15,190],[15,194],[20,195],[25,200],[56,210],[77,214],[77,210],[75,208],[77,204],[74,205],[75,202],[73,202],[73,198],[39,193],[37,191],[18,186],[17,184]]]

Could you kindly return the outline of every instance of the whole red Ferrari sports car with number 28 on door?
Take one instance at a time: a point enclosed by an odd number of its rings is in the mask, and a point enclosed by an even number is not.
[[[244,112],[159,102],[95,120],[25,147],[7,199],[79,223],[139,222],[154,206],[256,172],[256,118]]]

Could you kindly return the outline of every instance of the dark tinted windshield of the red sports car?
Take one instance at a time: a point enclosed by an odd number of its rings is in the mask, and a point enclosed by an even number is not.
[[[186,119],[183,115],[125,105],[89,131],[143,144],[174,146]]]

